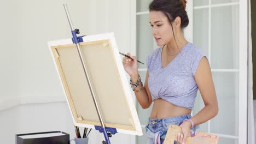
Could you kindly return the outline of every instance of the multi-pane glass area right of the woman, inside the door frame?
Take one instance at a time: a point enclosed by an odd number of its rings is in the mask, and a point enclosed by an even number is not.
[[[208,1],[208,0],[207,0]],[[240,3],[236,0],[209,0],[197,7],[194,0],[193,42],[210,62],[216,88],[219,113],[201,124],[200,130],[219,135],[219,143],[238,143],[240,89]],[[218,5],[216,5],[218,4]],[[193,109],[195,115],[204,106],[200,93]],[[245,124],[246,126],[246,124]]]

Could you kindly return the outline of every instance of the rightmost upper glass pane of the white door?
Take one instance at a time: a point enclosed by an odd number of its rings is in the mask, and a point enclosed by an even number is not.
[[[212,8],[211,66],[238,69],[239,5]]]

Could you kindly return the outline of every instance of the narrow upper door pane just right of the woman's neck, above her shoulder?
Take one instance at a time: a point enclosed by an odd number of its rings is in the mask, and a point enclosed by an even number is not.
[[[195,9],[193,15],[193,43],[208,57],[209,9]]]

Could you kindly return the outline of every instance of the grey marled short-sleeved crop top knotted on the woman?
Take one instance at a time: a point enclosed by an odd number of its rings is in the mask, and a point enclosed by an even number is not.
[[[198,90],[194,75],[205,53],[188,43],[165,68],[162,68],[161,53],[162,47],[159,47],[147,57],[152,100],[161,98],[192,110]]]

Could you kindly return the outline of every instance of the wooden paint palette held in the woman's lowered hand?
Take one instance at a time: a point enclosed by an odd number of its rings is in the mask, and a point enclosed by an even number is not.
[[[169,125],[164,144],[173,144],[178,133],[182,133],[178,125]],[[217,144],[219,137],[203,131],[198,131],[194,137],[189,137],[186,144]]]

